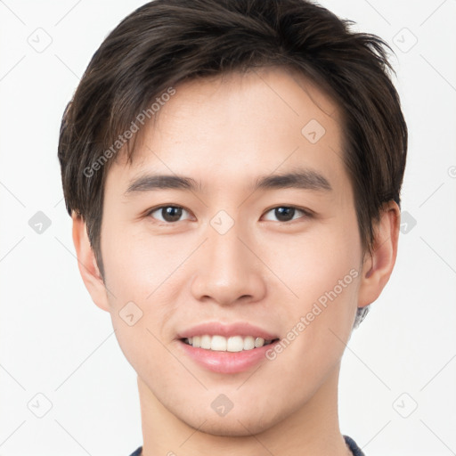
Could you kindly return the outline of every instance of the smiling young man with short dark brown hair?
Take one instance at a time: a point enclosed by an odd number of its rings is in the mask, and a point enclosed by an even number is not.
[[[156,0],[94,54],[59,158],[138,374],[135,456],[362,454],[338,372],[397,252],[386,47],[305,0]]]

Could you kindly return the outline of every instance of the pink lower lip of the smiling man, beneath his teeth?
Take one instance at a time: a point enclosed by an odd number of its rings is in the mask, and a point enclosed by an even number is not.
[[[217,352],[215,350],[206,350],[204,348],[195,348],[179,340],[185,354],[188,354],[192,360],[209,371],[222,374],[235,374],[238,372],[248,371],[259,362],[266,360],[266,352],[274,346],[275,342],[267,346],[260,346],[251,350],[242,350],[241,352]]]

